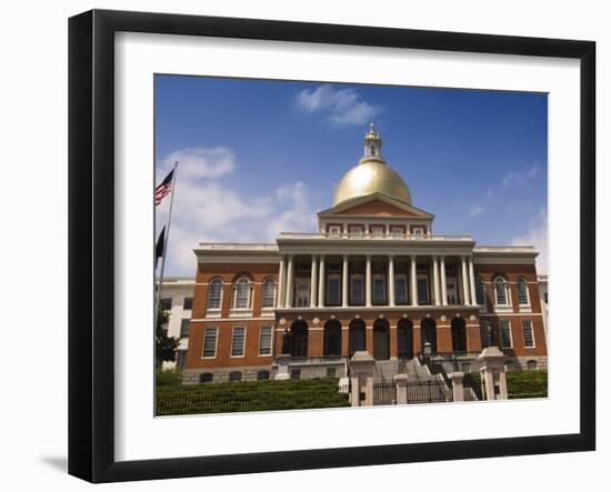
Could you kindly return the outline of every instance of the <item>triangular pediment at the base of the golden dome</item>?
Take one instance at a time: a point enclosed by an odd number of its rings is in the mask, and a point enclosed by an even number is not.
[[[348,215],[362,218],[421,218],[432,219],[433,215],[417,209],[413,205],[385,197],[382,193],[372,193],[347,200],[331,209],[319,212],[319,217]]]

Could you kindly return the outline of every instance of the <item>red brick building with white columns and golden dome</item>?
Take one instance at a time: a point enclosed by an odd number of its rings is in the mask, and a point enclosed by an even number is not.
[[[547,368],[537,251],[433,233],[381,145],[370,127],[318,232],[194,249],[184,382],[273,378],[283,350],[292,378],[342,376],[360,350],[380,374],[423,353],[472,371],[490,344]]]

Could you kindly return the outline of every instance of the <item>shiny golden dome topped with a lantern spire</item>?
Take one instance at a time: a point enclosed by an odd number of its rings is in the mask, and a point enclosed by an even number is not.
[[[411,194],[403,179],[380,155],[382,141],[373,137],[373,125],[365,135],[364,157],[340,180],[333,198],[333,207],[357,197],[382,193],[411,205]]]

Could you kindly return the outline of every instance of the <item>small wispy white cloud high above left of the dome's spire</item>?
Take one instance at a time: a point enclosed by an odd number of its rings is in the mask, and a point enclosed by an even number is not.
[[[297,94],[297,106],[307,113],[322,112],[338,125],[365,124],[381,110],[361,99],[354,89],[335,89],[323,84]]]

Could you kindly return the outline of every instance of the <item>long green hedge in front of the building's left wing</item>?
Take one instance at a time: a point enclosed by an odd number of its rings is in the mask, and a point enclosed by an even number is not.
[[[157,389],[158,415],[328,409],[349,405],[348,395],[338,392],[338,380],[333,378],[161,385]]]

